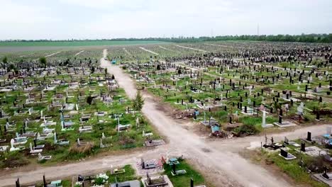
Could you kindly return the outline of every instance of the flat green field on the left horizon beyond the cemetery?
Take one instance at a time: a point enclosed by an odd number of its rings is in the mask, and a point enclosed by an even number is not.
[[[0,42],[1,47],[36,47],[36,46],[96,46],[96,45],[146,45],[167,43],[162,41],[45,41],[45,42]]]

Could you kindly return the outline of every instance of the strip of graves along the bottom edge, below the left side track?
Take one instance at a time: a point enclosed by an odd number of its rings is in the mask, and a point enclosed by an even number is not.
[[[187,170],[184,169],[187,168]],[[43,181],[30,184],[21,184],[18,178],[15,186],[110,186],[110,187],[156,187],[179,186],[179,183],[191,187],[205,187],[204,185],[194,185],[194,183],[204,183],[204,178],[199,176],[197,181],[192,179],[192,175],[198,174],[197,171],[185,163],[183,157],[161,157],[160,159],[143,159],[137,161],[135,165],[109,166],[109,169],[98,173],[76,174],[50,181],[43,176]],[[172,181],[175,181],[173,185]],[[23,181],[24,182],[24,181]]]

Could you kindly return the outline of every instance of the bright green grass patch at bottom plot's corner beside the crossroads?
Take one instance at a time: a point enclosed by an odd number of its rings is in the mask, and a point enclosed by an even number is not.
[[[183,187],[183,186],[190,186],[190,178],[194,180],[194,185],[203,185],[205,183],[204,177],[199,174],[198,171],[194,170],[192,166],[186,162],[186,160],[179,161],[180,164],[177,165],[177,170],[184,169],[187,171],[187,174],[180,175],[180,176],[172,176],[171,166],[167,165],[164,166],[165,168],[165,174],[167,174],[170,181],[173,183],[173,186],[175,187]]]

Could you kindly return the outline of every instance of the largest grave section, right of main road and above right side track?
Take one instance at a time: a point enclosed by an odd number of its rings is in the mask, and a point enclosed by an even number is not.
[[[168,50],[162,52],[149,45],[145,48],[157,51],[159,59],[124,65],[139,89],[148,89],[178,109],[175,118],[206,122],[205,111],[207,119],[212,117],[222,130],[236,136],[331,121],[331,76],[323,56],[326,47],[316,46],[321,54],[287,56],[306,45],[235,42],[181,46],[164,45]],[[172,50],[187,55],[170,57]],[[280,51],[271,53],[276,50]],[[306,67],[308,64],[319,67]]]

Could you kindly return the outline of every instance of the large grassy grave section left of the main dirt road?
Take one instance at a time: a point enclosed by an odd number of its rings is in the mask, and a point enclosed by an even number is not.
[[[114,76],[92,67],[40,68],[1,79],[13,86],[0,92],[1,166],[165,143],[133,110]]]

